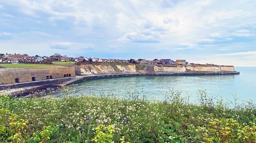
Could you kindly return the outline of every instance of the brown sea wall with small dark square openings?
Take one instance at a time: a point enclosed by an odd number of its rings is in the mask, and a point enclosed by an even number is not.
[[[0,85],[74,77],[74,67],[63,68],[1,68]]]

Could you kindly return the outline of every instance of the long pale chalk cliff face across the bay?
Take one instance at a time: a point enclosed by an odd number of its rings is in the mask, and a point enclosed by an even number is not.
[[[136,65],[80,65],[75,67],[76,75],[97,73],[162,73],[162,72],[234,72],[234,66],[156,66],[146,65],[138,69]]]

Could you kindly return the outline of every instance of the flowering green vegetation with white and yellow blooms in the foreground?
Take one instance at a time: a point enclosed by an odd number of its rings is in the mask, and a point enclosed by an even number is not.
[[[204,90],[198,90],[198,105],[174,89],[161,101],[143,89],[122,96],[111,90],[97,97],[62,93],[63,98],[1,95],[0,142],[256,142],[252,101],[224,103]]]

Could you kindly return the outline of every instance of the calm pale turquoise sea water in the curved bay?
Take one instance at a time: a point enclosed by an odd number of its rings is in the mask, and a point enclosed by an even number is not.
[[[186,95],[188,91],[191,99],[195,100],[198,89],[207,90],[208,95],[220,95],[225,100],[233,99],[231,93],[237,93],[242,99],[256,101],[256,67],[235,67],[240,75],[196,75],[196,76],[136,76],[117,77],[97,80],[87,80],[78,83],[78,92],[89,93],[94,91],[97,94],[100,90],[109,90],[119,93],[127,90],[147,91],[147,95],[163,98],[163,92],[168,88],[182,90]],[[74,85],[69,85],[73,87]],[[55,96],[61,96],[55,92]]]

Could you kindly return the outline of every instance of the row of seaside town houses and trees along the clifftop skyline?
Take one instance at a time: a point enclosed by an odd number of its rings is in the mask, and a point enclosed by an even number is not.
[[[28,54],[11,54],[0,53],[0,63],[52,63],[52,62],[75,62],[75,63],[83,63],[83,62],[96,62],[96,63],[107,63],[107,62],[119,62],[119,63],[134,63],[134,64],[149,64],[149,65],[201,65],[199,63],[190,63],[186,60],[172,60],[172,59],[154,59],[154,60],[146,60],[146,59],[104,59],[104,58],[87,58],[87,57],[68,57],[66,55],[61,55],[59,53],[55,53],[49,57],[47,56],[29,56]],[[206,65],[214,66],[214,64],[206,63]]]

